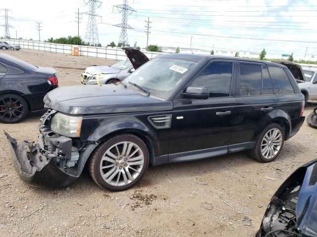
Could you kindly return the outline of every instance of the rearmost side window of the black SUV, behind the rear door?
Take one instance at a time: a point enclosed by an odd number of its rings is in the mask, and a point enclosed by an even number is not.
[[[293,86],[289,81],[283,68],[268,67],[271,76],[275,94],[291,94],[294,93]]]

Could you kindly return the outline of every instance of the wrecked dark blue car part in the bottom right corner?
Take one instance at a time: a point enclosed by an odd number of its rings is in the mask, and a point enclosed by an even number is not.
[[[298,168],[276,191],[255,237],[317,237],[317,160]]]

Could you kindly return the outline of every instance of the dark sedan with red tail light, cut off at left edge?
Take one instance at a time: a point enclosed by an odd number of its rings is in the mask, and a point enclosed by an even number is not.
[[[0,53],[0,122],[20,122],[44,110],[44,96],[58,86],[55,73]]]

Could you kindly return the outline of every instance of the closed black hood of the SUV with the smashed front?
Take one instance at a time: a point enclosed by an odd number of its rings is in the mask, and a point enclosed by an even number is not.
[[[65,86],[44,97],[46,108],[73,115],[168,111],[172,102],[141,95],[123,85]]]

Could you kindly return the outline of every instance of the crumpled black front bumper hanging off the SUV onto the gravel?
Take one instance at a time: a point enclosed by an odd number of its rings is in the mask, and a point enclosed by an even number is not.
[[[45,185],[62,189],[73,184],[78,176],[63,172],[55,164],[53,158],[41,153],[39,144],[23,141],[17,144],[16,140],[4,132],[11,150],[12,164],[22,180],[31,185]],[[40,134],[39,141],[41,141]],[[27,151],[25,146],[28,147]]]

